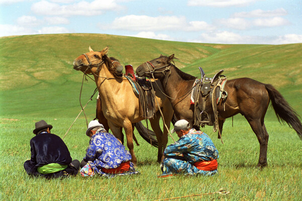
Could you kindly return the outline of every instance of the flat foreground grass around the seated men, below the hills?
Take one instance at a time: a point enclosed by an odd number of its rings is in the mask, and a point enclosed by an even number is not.
[[[20,116],[21,117],[21,116]],[[19,121],[4,120],[1,124],[1,200],[159,200],[186,195],[216,192],[220,188],[228,195],[209,194],[181,200],[300,200],[302,187],[301,142],[292,129],[276,121],[267,121],[270,134],[268,167],[255,168],[259,157],[259,143],[249,125],[242,119],[227,120],[221,144],[211,127],[209,134],[219,150],[219,174],[212,177],[176,176],[160,179],[156,162],[157,149],[142,141],[134,150],[139,175],[117,178],[82,178],[81,176],[46,180],[30,178],[23,163],[30,157],[29,140],[33,137],[33,118]],[[53,125],[53,133],[63,137],[72,119],[46,119]],[[74,124],[64,141],[73,159],[81,160],[89,143],[85,135],[85,119]],[[174,136],[176,137],[176,136]],[[170,143],[172,140],[169,138]]]

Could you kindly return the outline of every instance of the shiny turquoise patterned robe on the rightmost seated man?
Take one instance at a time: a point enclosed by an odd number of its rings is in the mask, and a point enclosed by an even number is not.
[[[164,151],[165,159],[161,164],[162,175],[171,173],[213,175],[217,170],[204,171],[193,164],[218,158],[218,151],[212,140],[203,132],[191,129],[188,134],[169,145]]]

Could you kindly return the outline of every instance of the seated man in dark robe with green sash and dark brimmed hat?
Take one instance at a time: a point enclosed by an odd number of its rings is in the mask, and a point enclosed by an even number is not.
[[[36,136],[30,140],[31,159],[25,161],[25,171],[29,175],[46,178],[77,175],[80,161],[71,161],[63,140],[50,133],[52,126],[41,120],[35,127],[33,133]]]

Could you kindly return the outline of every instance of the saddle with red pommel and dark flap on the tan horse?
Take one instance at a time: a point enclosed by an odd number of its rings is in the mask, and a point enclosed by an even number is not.
[[[133,67],[126,66],[125,77],[129,80],[134,93],[138,95],[139,115],[144,119],[151,119],[155,115],[155,92],[151,82],[145,78],[136,77]]]

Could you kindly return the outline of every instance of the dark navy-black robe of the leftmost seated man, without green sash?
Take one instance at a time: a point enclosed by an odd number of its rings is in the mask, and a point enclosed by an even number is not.
[[[24,168],[29,175],[60,177],[68,174],[77,174],[78,170],[71,165],[71,156],[67,146],[63,140],[51,133],[41,133],[30,140],[31,159],[25,161]],[[61,165],[68,165],[66,169],[50,173],[40,174],[37,170],[50,163],[58,163]]]

